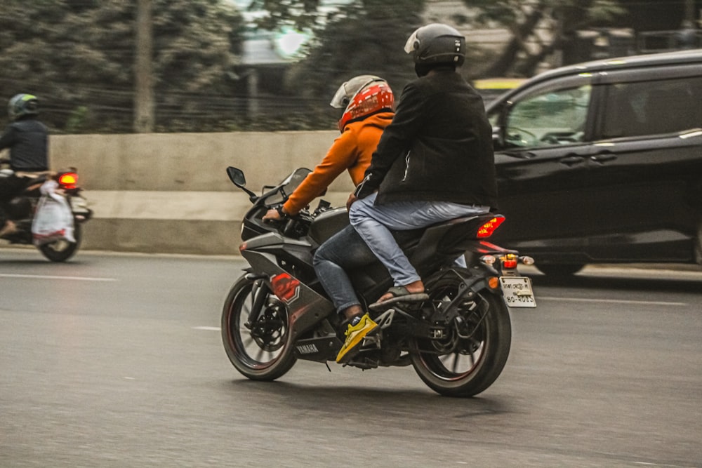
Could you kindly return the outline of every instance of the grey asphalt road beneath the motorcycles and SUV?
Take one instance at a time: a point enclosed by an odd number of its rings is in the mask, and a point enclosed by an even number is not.
[[[412,368],[244,379],[242,266],[0,249],[0,467],[702,467],[700,269],[528,270],[503,374],[450,399]]]

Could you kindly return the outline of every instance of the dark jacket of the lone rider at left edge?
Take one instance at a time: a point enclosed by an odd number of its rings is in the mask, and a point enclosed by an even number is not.
[[[13,171],[48,169],[48,131],[37,119],[25,118],[10,123],[0,137],[0,149],[10,148]]]

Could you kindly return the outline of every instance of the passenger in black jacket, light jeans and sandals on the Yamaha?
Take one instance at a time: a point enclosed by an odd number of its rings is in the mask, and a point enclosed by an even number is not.
[[[427,25],[409,37],[405,52],[418,79],[402,91],[347,203],[351,224],[395,284],[371,309],[428,297],[393,230],[488,213],[497,205],[491,125],[482,98],[456,72],[465,60],[465,37],[448,25]],[[373,323],[367,328],[349,334],[375,329]]]

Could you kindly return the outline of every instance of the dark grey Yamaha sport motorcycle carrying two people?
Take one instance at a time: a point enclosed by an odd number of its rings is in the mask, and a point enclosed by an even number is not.
[[[336,361],[343,345],[341,319],[314,274],[314,250],[348,225],[346,208],[324,200],[282,222],[263,215],[286,201],[309,169],[300,168],[256,195],[244,173],[227,168],[230,180],[253,206],[241,225],[239,247],[249,262],[234,282],[222,312],[227,356],[251,380],[275,380],[298,359]],[[429,299],[371,312],[379,332],[364,338],[343,365],[360,369],[413,366],[435,392],[473,396],[501,374],[510,352],[510,308],[536,307],[531,281],[517,265],[534,260],[486,239],[505,218],[488,214],[458,218],[418,232],[395,233],[424,279]],[[456,266],[465,254],[467,267]],[[392,286],[380,262],[348,272],[359,299],[368,305]],[[330,368],[331,370],[331,368]]]

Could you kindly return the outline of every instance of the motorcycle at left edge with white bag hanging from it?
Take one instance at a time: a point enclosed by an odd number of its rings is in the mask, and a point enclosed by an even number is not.
[[[0,160],[0,163],[7,163],[6,160]],[[13,211],[13,218],[17,229],[14,232],[1,236],[0,239],[9,241],[11,244],[33,245],[34,237],[32,236],[32,222],[37,211],[37,205],[41,198],[40,187],[47,180],[55,180],[58,182],[57,192],[65,196],[74,219],[74,242],[60,239],[48,243],[42,243],[37,246],[39,251],[52,262],[65,262],[71,258],[78,250],[81,242],[82,229],[81,225],[89,220],[93,215],[93,211],[88,208],[86,199],[81,196],[81,187],[78,186],[78,173],[76,168],[58,171],[56,173],[45,171],[41,173],[21,173],[15,174],[10,168],[0,170],[1,177],[10,177],[17,175],[25,180],[25,187],[18,196],[15,196],[7,206],[8,210]],[[0,225],[4,225],[5,213],[0,208]]]

